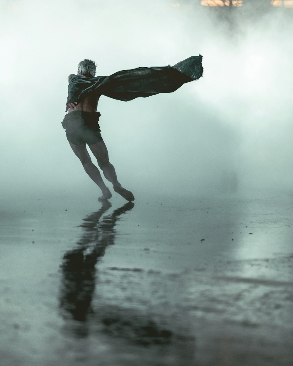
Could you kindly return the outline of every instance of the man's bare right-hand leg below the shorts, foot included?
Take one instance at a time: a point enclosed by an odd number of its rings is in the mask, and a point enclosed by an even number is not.
[[[96,157],[99,167],[103,170],[105,178],[113,184],[114,191],[119,193],[127,201],[133,201],[133,194],[123,188],[117,180],[116,172],[109,161],[108,150],[104,141],[89,145],[89,148]]]

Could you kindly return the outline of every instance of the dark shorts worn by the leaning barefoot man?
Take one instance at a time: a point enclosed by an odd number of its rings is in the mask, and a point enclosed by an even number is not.
[[[73,111],[67,113],[62,121],[67,140],[74,145],[85,143],[93,145],[103,141],[99,126],[100,112]]]

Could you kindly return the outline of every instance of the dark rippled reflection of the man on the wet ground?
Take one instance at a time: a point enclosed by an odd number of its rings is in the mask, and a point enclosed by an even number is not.
[[[105,254],[108,246],[115,244],[115,225],[119,216],[129,212],[133,202],[127,202],[108,214],[111,203],[103,201],[101,208],[86,216],[79,225],[83,229],[77,246],[68,250],[62,263],[62,287],[60,306],[71,313],[75,320],[85,321],[96,285],[96,264]]]

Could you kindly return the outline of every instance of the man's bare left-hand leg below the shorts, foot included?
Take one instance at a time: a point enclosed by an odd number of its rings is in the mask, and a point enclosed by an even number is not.
[[[92,178],[94,183],[96,183],[101,188],[103,195],[99,197],[99,200],[102,201],[104,199],[111,198],[112,194],[109,188],[105,185],[99,169],[96,167],[96,165],[92,163],[92,159],[89,156],[88,150],[86,150],[86,145],[74,145],[71,142],[69,144],[75,155],[81,161],[81,164],[84,167],[86,173],[90,176],[90,178]]]

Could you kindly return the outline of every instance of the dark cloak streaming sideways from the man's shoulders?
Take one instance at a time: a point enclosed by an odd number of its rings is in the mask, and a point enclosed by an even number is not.
[[[174,66],[138,67],[122,70],[110,76],[69,78],[67,103],[80,103],[88,93],[129,101],[159,93],[172,93],[184,83],[197,80],[203,74],[202,56],[191,56]]]

